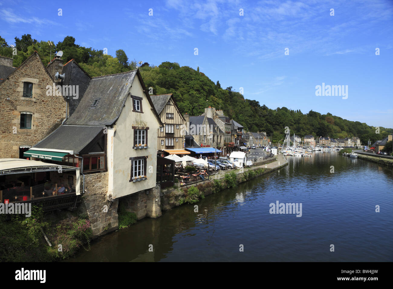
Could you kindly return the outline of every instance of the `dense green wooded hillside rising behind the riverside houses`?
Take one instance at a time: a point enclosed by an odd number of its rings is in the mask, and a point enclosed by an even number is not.
[[[75,38],[66,36],[63,41],[53,45],[51,50],[46,41],[33,39],[25,34],[19,39],[15,37],[17,55],[12,55],[12,48],[0,37],[0,55],[13,57],[13,65],[19,66],[34,51],[37,51],[43,63],[50,61],[55,51],[62,50],[64,63],[75,59],[77,63],[91,76],[116,74],[135,69],[137,62],[130,61],[124,50],[116,50],[114,57],[104,54],[103,50],[86,48],[75,43]],[[105,52],[106,53],[106,52]],[[260,105],[259,101],[244,98],[233,87],[223,88],[219,80],[212,81],[203,72],[189,66],[180,66],[176,62],[163,62],[158,66],[143,63],[140,72],[146,87],[153,88],[153,94],[173,93],[182,114],[200,115],[206,105],[221,109],[224,115],[241,123],[246,131],[266,131],[272,143],[277,143],[285,137],[285,127],[299,136],[312,134],[317,136],[330,136],[331,138],[346,138],[358,136],[363,144],[368,140],[371,143],[382,140],[393,129],[379,127],[379,134],[375,127],[349,121],[331,113],[320,114],[310,110],[303,113],[299,109],[292,110],[286,107],[269,109]]]

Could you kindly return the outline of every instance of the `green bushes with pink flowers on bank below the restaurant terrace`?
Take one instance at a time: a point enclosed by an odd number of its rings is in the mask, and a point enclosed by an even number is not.
[[[31,211],[31,217],[0,216],[0,261],[57,261],[73,256],[81,247],[90,249],[92,230],[87,215],[67,210],[44,214],[38,206]]]

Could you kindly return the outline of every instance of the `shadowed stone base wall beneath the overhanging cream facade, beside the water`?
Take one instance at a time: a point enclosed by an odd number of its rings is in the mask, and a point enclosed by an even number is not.
[[[125,204],[126,211],[136,214],[138,220],[144,217],[157,218],[161,216],[160,186],[150,190],[139,191],[120,199]]]

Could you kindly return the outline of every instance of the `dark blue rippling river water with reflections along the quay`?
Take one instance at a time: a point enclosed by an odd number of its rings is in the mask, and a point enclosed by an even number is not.
[[[336,151],[287,158],[207,196],[198,212],[183,205],[145,218],[68,261],[393,261],[393,169]],[[270,214],[277,201],[301,203],[301,217]]]

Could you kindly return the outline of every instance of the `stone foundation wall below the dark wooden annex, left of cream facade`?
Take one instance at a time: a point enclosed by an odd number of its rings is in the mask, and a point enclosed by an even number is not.
[[[83,189],[81,175],[81,191]],[[119,228],[119,200],[107,200],[108,172],[85,175],[83,203],[92,224],[93,234],[100,236]]]

